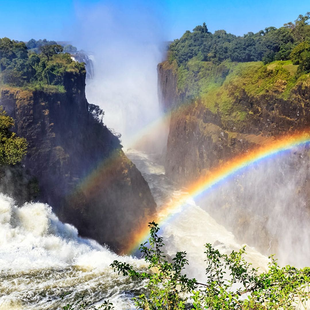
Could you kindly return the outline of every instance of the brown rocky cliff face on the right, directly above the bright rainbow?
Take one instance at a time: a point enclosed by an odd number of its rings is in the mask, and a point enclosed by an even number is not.
[[[166,173],[183,185],[273,136],[310,125],[310,78],[296,83],[287,98],[281,96],[286,88],[281,80],[256,95],[227,81],[210,98],[180,91],[174,64],[164,62],[157,70],[160,102],[165,111],[171,110]]]

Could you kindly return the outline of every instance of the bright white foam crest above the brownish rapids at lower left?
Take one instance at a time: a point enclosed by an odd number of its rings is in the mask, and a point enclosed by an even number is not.
[[[13,199],[0,194],[0,223],[2,271],[71,265],[94,269],[117,259],[96,241],[79,237],[75,227],[60,222],[51,207],[43,203],[30,202],[19,208]]]

